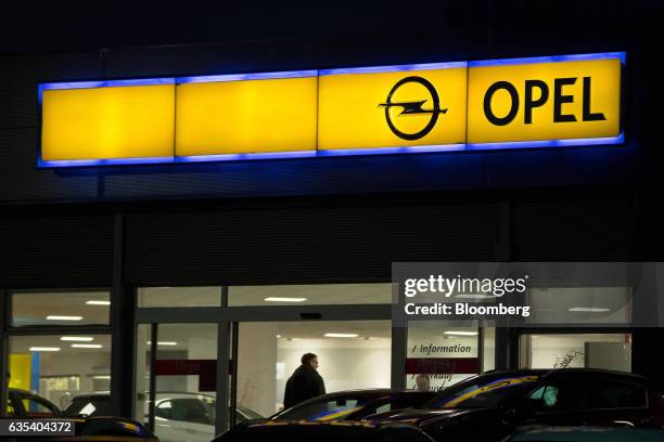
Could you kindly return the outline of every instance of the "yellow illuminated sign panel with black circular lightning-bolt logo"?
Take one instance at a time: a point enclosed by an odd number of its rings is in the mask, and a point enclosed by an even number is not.
[[[465,63],[430,66],[322,75],[318,148],[464,144]]]

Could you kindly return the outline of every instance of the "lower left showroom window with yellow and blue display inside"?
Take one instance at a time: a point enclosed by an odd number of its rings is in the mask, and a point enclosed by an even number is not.
[[[34,392],[35,404],[46,401],[63,410],[77,398],[108,394],[94,384],[97,376],[111,379],[108,335],[13,336],[9,347],[9,386],[22,401]]]

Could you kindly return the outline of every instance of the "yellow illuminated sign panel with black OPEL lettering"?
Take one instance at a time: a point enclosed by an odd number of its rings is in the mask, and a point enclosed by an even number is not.
[[[617,136],[621,60],[470,67],[468,142]]]

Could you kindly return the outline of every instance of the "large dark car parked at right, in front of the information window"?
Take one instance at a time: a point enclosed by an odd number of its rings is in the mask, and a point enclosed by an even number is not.
[[[498,441],[524,425],[664,428],[663,389],[628,373],[587,368],[487,372],[421,407],[371,416],[417,425],[437,441]]]

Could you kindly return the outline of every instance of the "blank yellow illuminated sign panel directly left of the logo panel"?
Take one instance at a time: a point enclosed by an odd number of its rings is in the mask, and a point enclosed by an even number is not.
[[[227,79],[178,86],[178,156],[316,151],[316,75]]]

